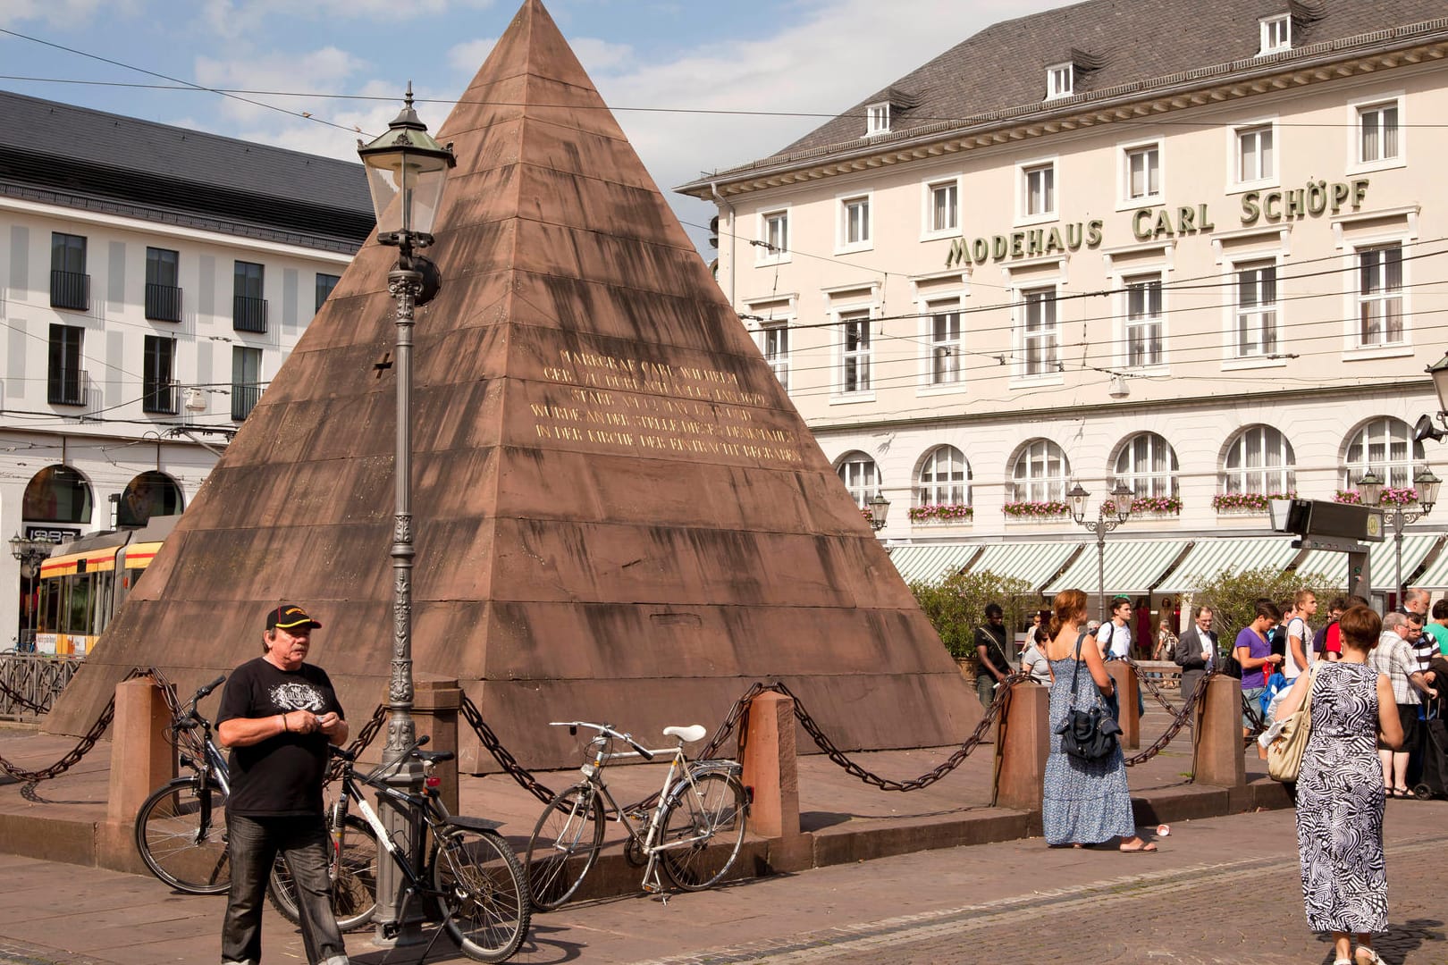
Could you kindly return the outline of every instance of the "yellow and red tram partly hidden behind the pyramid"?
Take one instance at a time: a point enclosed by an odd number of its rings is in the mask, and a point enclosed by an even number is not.
[[[90,652],[181,516],[62,543],[41,563],[35,651]]]

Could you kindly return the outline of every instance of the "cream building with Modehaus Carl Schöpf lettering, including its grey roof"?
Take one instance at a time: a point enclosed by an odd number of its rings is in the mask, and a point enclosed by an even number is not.
[[[862,508],[891,502],[906,577],[1095,596],[1080,482],[1092,518],[1135,493],[1108,595],[1253,566],[1345,584],[1266,499],[1352,499],[1370,469],[1406,499],[1442,466],[1413,425],[1448,344],[1445,54],[1416,0],[1095,0],[679,190],[718,204],[720,285]],[[1403,579],[1445,587],[1435,524]]]

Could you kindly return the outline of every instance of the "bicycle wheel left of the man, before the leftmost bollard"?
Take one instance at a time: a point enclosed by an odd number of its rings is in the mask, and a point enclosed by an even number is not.
[[[158,787],[136,812],[136,851],[178,891],[222,894],[232,887],[226,856],[226,791],[197,777]]]

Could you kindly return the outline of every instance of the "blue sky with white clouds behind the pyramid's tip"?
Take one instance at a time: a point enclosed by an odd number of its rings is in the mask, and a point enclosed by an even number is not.
[[[0,88],[355,161],[353,127],[384,130],[407,81],[434,101],[418,113],[436,130],[518,1],[0,0]],[[770,155],[825,120],[809,114],[851,107],[990,23],[1064,3],[546,6],[699,239],[714,208],[673,185]],[[178,82],[266,93],[148,87]]]

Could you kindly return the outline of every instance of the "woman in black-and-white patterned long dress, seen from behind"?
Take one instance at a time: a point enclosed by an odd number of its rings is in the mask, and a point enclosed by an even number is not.
[[[1383,767],[1377,739],[1403,742],[1387,677],[1367,666],[1383,621],[1354,606],[1338,624],[1342,658],[1297,677],[1277,719],[1312,687],[1312,728],[1297,775],[1297,851],[1308,927],[1332,932],[1334,965],[1377,965],[1373,933],[1387,930],[1383,864]],[[1355,956],[1352,935],[1358,936]]]

